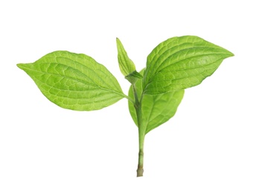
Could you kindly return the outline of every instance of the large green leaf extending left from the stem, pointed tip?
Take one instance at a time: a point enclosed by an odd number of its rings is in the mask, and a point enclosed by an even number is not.
[[[125,97],[118,81],[85,54],[55,51],[30,64],[19,64],[51,102],[62,108],[92,111]]]

